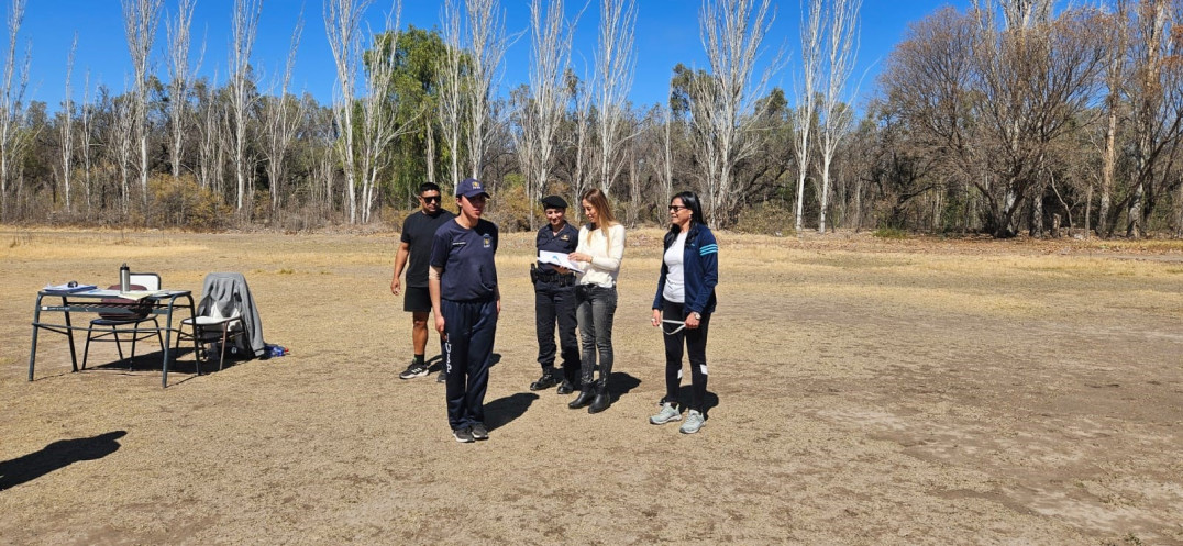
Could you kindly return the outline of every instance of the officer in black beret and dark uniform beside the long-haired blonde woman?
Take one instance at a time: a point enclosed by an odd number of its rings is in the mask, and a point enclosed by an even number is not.
[[[578,245],[580,232],[567,223],[567,201],[557,195],[543,197],[547,225],[538,229],[535,246],[538,252],[570,254]],[[575,391],[580,375],[580,343],[575,336],[575,274],[552,264],[531,264],[534,282],[535,327],[538,333],[538,364],[542,377],[530,383],[530,390],[558,385],[560,395]],[[555,324],[562,349],[563,377],[555,371]]]

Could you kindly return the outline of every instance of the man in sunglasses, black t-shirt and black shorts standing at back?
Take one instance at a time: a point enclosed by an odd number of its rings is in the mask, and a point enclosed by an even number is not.
[[[432,240],[435,230],[448,220],[455,217],[454,214],[444,210],[441,207],[440,187],[432,182],[419,186],[420,210],[415,212],[402,222],[402,240],[399,243],[399,253],[394,256],[394,279],[390,281],[390,293],[399,295],[402,285],[399,277],[407,265],[408,258],[411,267],[407,267],[407,293],[403,297],[402,310],[411,312],[412,330],[411,339],[414,344],[415,357],[411,365],[399,373],[402,379],[422,377],[427,375],[428,368],[424,360],[427,350],[427,313],[432,310],[432,297],[427,291],[427,262],[432,254]],[[444,373],[440,373],[442,382]]]

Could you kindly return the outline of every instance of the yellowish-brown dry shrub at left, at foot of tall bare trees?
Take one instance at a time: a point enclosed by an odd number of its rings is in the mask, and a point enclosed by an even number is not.
[[[231,214],[230,207],[198,186],[192,175],[156,175],[148,180],[148,225],[208,232],[222,228]]]

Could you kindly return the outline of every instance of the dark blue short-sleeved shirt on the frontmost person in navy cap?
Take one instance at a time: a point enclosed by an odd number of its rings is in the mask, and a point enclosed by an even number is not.
[[[441,267],[440,297],[453,301],[485,300],[497,294],[497,226],[479,220],[472,229],[455,221],[435,230],[432,267]]]

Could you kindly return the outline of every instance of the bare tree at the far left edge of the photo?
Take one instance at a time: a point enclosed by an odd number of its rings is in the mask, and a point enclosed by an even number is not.
[[[8,220],[8,181],[19,163],[25,145],[25,90],[32,56],[25,50],[20,71],[17,69],[17,33],[25,20],[27,0],[12,0],[8,9],[8,50],[4,64],[4,89],[0,90],[0,221]]]

